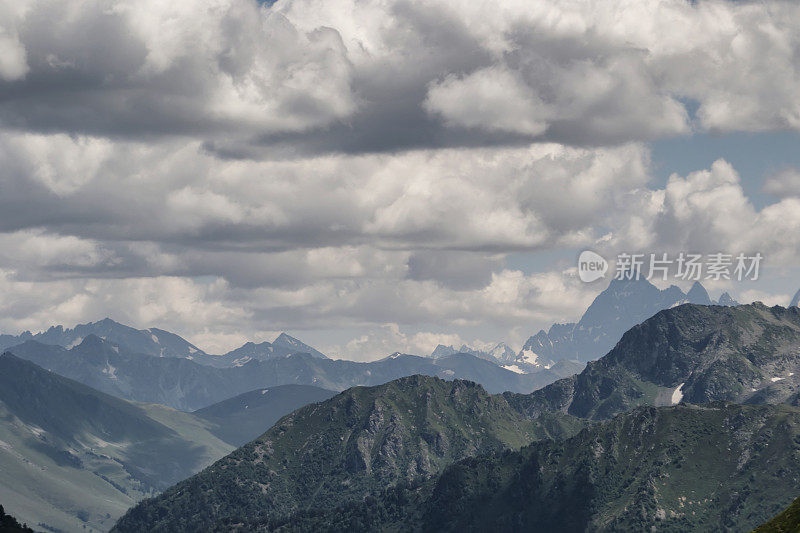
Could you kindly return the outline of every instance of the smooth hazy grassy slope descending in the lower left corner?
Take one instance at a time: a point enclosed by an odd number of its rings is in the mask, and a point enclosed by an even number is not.
[[[108,530],[137,501],[233,449],[201,418],[10,354],[0,356],[0,420],[0,501],[37,530]]]

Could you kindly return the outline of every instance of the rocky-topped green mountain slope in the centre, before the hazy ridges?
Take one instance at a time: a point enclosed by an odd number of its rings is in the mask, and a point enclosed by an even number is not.
[[[574,434],[564,416],[531,421],[467,381],[412,376],[355,387],[281,419],[260,438],[126,514],[116,531],[227,530],[332,508],[464,457]]]

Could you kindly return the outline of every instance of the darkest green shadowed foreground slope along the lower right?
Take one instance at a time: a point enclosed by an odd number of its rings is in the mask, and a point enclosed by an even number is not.
[[[640,408],[561,442],[461,461],[287,531],[748,531],[800,482],[800,410]]]

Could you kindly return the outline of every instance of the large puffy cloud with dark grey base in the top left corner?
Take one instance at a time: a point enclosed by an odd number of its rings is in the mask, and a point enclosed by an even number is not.
[[[22,49],[0,63],[10,127],[252,136],[325,127],[355,109],[338,33],[298,31],[251,1],[31,1],[9,25],[0,45],[15,35]],[[26,69],[14,66],[20,54]]]

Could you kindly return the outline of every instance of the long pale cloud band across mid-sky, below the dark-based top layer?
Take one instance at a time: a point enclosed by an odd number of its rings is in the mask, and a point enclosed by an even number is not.
[[[234,162],[197,143],[5,133],[0,225],[206,251],[533,250],[585,241],[649,180],[648,158],[537,145]]]

